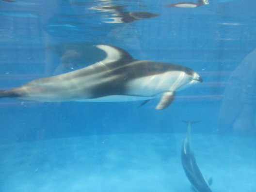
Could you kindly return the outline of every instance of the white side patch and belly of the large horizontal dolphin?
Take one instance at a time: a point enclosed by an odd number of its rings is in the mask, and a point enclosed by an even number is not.
[[[126,95],[103,96],[93,99],[77,100],[81,102],[124,102],[148,100],[160,97],[167,91],[176,91],[190,82],[189,76],[181,71],[146,76],[130,80],[127,84]]]

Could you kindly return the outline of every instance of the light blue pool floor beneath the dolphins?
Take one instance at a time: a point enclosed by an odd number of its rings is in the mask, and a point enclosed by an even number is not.
[[[190,192],[185,134],[101,135],[0,145],[1,192]],[[192,134],[213,192],[256,192],[256,138]]]

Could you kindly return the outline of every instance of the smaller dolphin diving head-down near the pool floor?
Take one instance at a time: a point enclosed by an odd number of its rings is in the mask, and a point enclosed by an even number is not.
[[[191,134],[190,129],[191,125],[197,123],[196,121],[183,121],[188,124],[188,130],[186,137],[183,142],[182,150],[181,150],[181,161],[184,171],[190,180],[193,189],[197,192],[212,192],[209,185],[212,183],[212,179],[210,178],[208,181],[204,178],[201,173],[198,165],[196,164],[196,160],[191,148]]]

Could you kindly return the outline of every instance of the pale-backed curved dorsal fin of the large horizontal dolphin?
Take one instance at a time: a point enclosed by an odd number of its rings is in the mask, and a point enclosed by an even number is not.
[[[109,45],[97,45],[96,47],[105,51],[105,53],[107,54],[107,57],[101,61],[104,64],[117,62],[120,60],[124,60],[124,61],[128,61],[128,62],[134,60],[129,55],[129,53],[126,52],[122,48],[117,48],[117,47],[109,46]]]

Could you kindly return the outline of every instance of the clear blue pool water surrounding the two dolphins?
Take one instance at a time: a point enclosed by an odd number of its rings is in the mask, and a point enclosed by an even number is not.
[[[192,191],[180,160],[181,120],[200,121],[192,148],[213,192],[256,191],[256,2],[166,6],[178,2],[0,0],[0,89],[100,61],[101,44],[186,65],[204,79],[162,111],[159,99],[140,106],[1,98],[0,192]],[[127,12],[155,15],[118,22]],[[65,64],[67,50],[78,60]]]

